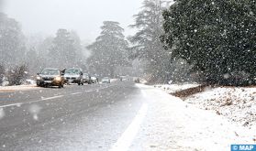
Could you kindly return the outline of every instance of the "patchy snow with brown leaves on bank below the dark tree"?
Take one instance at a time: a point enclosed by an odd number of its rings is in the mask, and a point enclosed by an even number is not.
[[[184,102],[224,115],[229,121],[256,132],[256,88],[213,88],[194,94]]]

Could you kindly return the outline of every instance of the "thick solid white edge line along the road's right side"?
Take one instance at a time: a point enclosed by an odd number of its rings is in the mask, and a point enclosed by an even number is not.
[[[121,135],[121,137],[118,138],[117,142],[114,144],[114,146],[111,147],[111,149],[109,149],[109,151],[128,150],[128,147],[131,145],[133,139],[139,131],[139,126],[145,118],[147,111],[148,104],[143,103],[132,123],[128,125],[126,131],[123,133],[123,135]]]

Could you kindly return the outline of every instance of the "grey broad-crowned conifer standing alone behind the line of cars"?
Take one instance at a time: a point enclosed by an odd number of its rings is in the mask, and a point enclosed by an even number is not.
[[[100,36],[87,47],[92,51],[88,63],[92,72],[113,77],[117,66],[128,65],[128,41],[118,22],[105,21],[101,29]]]

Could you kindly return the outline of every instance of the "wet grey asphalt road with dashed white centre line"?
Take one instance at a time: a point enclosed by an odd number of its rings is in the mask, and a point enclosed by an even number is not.
[[[0,150],[109,150],[142,103],[129,81],[0,92]]]

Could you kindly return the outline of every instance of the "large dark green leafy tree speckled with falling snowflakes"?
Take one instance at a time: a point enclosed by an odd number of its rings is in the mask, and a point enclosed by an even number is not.
[[[255,1],[177,0],[163,12],[162,42],[203,81],[244,84],[256,73]],[[250,80],[244,79],[248,75]],[[239,83],[237,81],[240,81]]]

